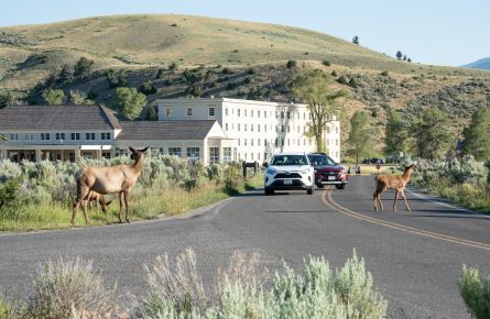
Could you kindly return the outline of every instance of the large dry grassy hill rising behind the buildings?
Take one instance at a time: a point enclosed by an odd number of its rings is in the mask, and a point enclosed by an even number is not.
[[[95,62],[90,76],[56,79],[63,66],[80,57]],[[287,61],[297,66],[287,68]],[[170,69],[171,64],[176,69]],[[358,109],[372,114],[379,141],[390,109],[411,119],[424,108],[440,108],[454,119],[456,132],[475,109],[490,107],[490,72],[400,62],[298,28],[150,14],[0,29],[0,94],[11,91],[41,103],[42,91],[54,87],[117,107],[106,78],[110,68],[124,69],[129,87],[151,81],[156,91],[148,96],[150,103],[189,95],[291,101],[291,79],[302,69],[320,68],[334,74],[333,79],[355,79],[355,86],[333,86],[352,92],[353,99],[345,102],[346,119]],[[345,128],[347,136],[347,121]]]

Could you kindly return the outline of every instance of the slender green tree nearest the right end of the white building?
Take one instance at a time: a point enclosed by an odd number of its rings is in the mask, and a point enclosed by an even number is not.
[[[350,145],[347,153],[356,157],[356,164],[359,163],[360,157],[368,156],[371,153],[373,148],[372,129],[367,112],[360,110],[350,118],[350,132],[347,143]]]

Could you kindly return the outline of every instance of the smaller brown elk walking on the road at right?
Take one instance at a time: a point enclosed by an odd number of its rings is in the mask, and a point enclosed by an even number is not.
[[[402,194],[403,201],[405,202],[406,210],[411,210],[409,204],[406,202],[405,194],[403,190],[405,189],[406,184],[410,180],[410,174],[412,173],[415,164],[410,166],[405,166],[405,172],[403,175],[379,175],[374,177],[375,180],[375,191],[372,195],[374,199],[374,210],[378,211],[377,200],[380,204],[381,210],[383,210],[383,205],[381,204],[381,193],[386,189],[394,189],[394,202],[393,210],[396,211],[396,202],[399,199],[399,194]]]

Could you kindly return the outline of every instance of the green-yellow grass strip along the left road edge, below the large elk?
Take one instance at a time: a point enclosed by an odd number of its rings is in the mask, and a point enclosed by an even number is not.
[[[189,191],[178,186],[139,187],[133,190],[129,201],[129,218],[131,221],[155,219],[162,216],[175,216],[188,210],[204,207],[226,199],[235,194],[243,193],[263,185],[263,175],[257,174],[247,183],[239,184],[230,191],[221,183],[209,182]],[[119,200],[116,196],[107,215],[101,209],[88,210],[89,227],[117,223],[119,221]],[[0,213],[0,231],[30,231],[72,228],[72,206],[51,202],[28,205],[15,211]],[[81,208],[76,218],[77,226],[85,226]]]

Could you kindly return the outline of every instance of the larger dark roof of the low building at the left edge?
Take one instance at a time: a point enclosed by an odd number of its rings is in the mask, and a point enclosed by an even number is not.
[[[112,129],[121,125],[115,112],[101,106],[10,106],[0,110],[0,131]]]

